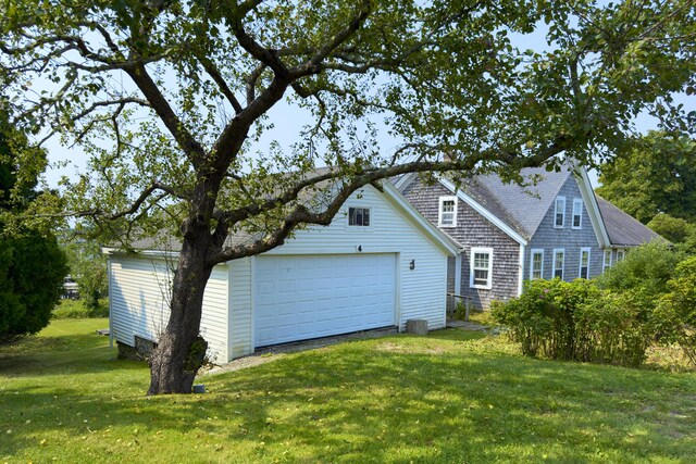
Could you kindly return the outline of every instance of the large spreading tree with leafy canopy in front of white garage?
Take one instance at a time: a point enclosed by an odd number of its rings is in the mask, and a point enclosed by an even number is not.
[[[695,15],[692,0],[10,0],[0,51],[17,121],[91,156],[69,213],[125,246],[181,238],[149,393],[189,392],[215,264],[330,224],[389,176],[520,180],[608,155],[646,110],[687,128],[670,95],[694,86]],[[539,27],[545,50],[515,46]],[[254,152],[284,99],[310,122]],[[253,239],[228,244],[239,230]]]

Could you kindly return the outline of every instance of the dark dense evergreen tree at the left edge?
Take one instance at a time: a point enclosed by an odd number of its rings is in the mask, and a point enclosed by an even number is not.
[[[17,176],[16,162],[27,156],[38,158],[35,166],[46,159],[42,151],[27,147],[26,137],[9,125],[0,108],[0,343],[48,325],[67,274],[55,237],[27,228],[5,230],[9,216],[38,195],[36,176]]]

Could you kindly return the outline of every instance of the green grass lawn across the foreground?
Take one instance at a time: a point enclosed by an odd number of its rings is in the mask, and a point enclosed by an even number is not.
[[[696,374],[530,360],[443,330],[347,342],[147,398],[105,319],[0,348],[0,462],[694,462]]]

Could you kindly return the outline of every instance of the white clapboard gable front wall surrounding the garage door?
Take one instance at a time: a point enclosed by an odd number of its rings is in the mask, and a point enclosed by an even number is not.
[[[370,208],[370,227],[349,226],[349,208]],[[444,328],[447,256],[419,227],[399,206],[368,186],[346,201],[330,226],[300,230],[266,254],[398,253],[397,325],[405,329],[408,319],[422,318],[430,329]]]

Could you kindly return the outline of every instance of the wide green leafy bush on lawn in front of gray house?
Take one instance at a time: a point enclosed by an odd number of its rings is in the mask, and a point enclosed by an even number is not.
[[[651,339],[641,300],[589,280],[533,280],[521,297],[492,306],[494,318],[531,356],[636,366]]]

